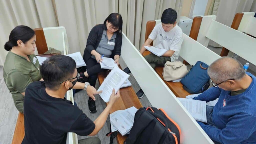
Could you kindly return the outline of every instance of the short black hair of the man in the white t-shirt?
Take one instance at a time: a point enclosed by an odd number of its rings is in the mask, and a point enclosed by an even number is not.
[[[172,8],[167,8],[162,13],[161,22],[164,24],[174,24],[177,19],[177,12]]]

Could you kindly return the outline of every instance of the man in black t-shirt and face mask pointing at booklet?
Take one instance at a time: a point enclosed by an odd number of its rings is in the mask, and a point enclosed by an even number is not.
[[[31,83],[25,91],[23,144],[66,143],[67,132],[94,136],[103,127],[111,107],[120,97],[119,91],[115,95],[113,90],[108,106],[93,122],[65,98],[69,89],[85,86],[76,82],[79,74],[72,58],[63,55],[52,56],[42,64],[40,74],[44,81]],[[90,94],[98,94],[95,88],[88,86],[87,92],[89,89]],[[90,137],[79,140],[79,143],[98,144],[101,141],[97,137]]]

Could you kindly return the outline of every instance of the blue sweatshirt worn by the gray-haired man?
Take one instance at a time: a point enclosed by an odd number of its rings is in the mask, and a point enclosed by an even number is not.
[[[220,143],[256,143],[256,78],[242,94],[230,96],[230,91],[212,87],[203,92],[196,100],[209,102],[219,98],[212,112],[216,127],[198,124],[207,135]]]

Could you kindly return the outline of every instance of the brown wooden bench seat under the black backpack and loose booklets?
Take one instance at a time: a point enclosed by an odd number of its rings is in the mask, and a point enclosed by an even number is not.
[[[98,74],[98,81],[100,85],[103,83],[108,73],[109,72],[102,72]],[[106,105],[108,105],[108,103],[106,103]],[[143,107],[131,86],[121,88],[120,98],[115,102],[115,104],[111,108],[110,114],[117,110],[124,110],[132,106],[136,107],[137,109]],[[118,135],[116,136],[116,140],[120,144],[123,144],[126,138],[126,136],[122,136],[120,133],[118,133]]]

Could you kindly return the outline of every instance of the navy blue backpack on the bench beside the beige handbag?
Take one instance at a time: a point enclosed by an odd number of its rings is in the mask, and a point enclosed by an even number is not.
[[[210,77],[207,74],[208,65],[197,61],[188,74],[180,81],[183,88],[190,94],[199,94],[210,86]]]

